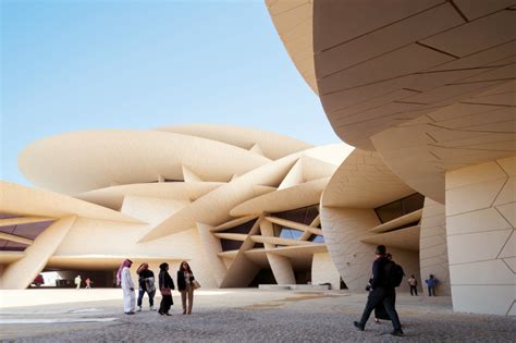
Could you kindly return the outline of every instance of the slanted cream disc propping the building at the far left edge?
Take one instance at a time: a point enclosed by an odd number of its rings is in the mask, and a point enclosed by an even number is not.
[[[39,234],[34,244],[25,249],[25,256],[4,269],[1,287],[22,290],[28,286],[34,280],[34,275],[45,268],[50,256],[74,224],[75,219],[76,217],[59,219]]]

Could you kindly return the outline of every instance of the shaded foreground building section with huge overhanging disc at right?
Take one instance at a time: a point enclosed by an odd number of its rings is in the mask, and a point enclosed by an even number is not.
[[[364,151],[363,168],[378,174],[381,160],[426,197],[410,215],[403,186],[389,182],[401,201],[390,209],[397,219],[383,222],[371,211],[386,200],[374,184],[391,176],[361,175],[357,189],[348,161],[340,167],[322,196],[321,222],[346,284],[359,289],[366,278],[366,242],[383,235],[388,246],[410,250],[416,229],[405,225],[420,218],[421,274],[441,275],[454,309],[515,316],[515,1],[266,4],[335,133]],[[356,191],[359,204],[349,201]]]

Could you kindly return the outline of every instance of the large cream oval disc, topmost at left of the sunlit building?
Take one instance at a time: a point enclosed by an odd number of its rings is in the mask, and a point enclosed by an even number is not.
[[[77,155],[77,147],[88,154]],[[52,168],[48,168],[50,161]],[[37,140],[21,152],[19,167],[38,186],[77,194],[112,182],[155,182],[158,175],[182,180],[183,164],[201,172],[198,176],[202,180],[225,182],[269,161],[233,145],[184,134],[107,130]]]

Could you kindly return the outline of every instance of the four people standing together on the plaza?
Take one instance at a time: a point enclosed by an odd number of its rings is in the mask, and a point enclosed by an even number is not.
[[[126,315],[135,314],[135,286],[131,278],[131,267],[133,261],[126,259],[120,265],[116,272],[116,283],[122,286],[124,295],[124,313]],[[169,274],[169,264],[163,262],[159,266],[158,286],[161,293],[161,303],[158,314],[161,316],[171,316],[170,308],[174,304],[172,298],[172,290],[175,290],[174,280]],[[153,310],[153,298],[156,295],[155,273],[149,269],[148,264],[142,264],[136,270],[138,274],[138,311],[142,310],[142,303],[145,293],[149,297],[149,309]],[[192,314],[194,303],[194,290],[200,285],[195,280],[194,273],[186,261],[182,261],[177,270],[177,290],[181,293],[181,302],[183,305],[183,315]]]

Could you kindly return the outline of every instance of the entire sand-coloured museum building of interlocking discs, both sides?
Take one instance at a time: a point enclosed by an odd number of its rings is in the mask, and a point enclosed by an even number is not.
[[[206,287],[365,292],[384,244],[454,310],[515,316],[513,1],[265,5],[345,144],[202,124],[37,140],[19,156],[36,187],[1,183],[0,286],[112,286],[130,258],[187,260]]]

